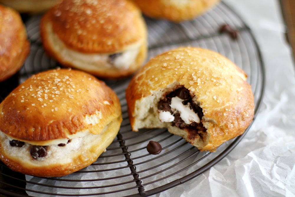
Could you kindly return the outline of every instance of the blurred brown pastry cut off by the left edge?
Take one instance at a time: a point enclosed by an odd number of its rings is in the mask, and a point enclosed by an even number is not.
[[[0,4],[0,82],[22,67],[29,52],[30,43],[19,13]]]

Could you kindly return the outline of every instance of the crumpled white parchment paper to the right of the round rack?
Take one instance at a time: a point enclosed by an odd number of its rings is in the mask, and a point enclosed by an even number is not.
[[[266,67],[263,103],[230,154],[198,177],[154,196],[295,196],[294,65],[278,2],[224,1],[250,26],[260,46]]]

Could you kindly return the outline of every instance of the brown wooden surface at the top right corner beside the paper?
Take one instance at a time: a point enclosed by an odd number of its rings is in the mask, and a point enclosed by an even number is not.
[[[280,0],[283,18],[286,23],[286,38],[295,57],[295,0]]]

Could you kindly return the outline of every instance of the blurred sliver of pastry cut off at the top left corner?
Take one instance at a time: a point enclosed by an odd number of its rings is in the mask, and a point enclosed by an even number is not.
[[[61,0],[0,0],[0,3],[12,7],[21,13],[37,14],[44,12]]]

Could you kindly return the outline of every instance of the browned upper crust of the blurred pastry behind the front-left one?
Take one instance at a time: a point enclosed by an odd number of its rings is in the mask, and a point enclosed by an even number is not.
[[[146,39],[142,20],[139,8],[130,1],[64,0],[45,14],[42,23],[51,23],[68,48],[113,53]]]

